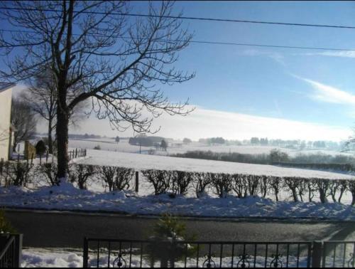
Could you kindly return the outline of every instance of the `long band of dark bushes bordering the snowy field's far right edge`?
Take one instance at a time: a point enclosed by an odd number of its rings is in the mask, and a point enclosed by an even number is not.
[[[238,152],[190,151],[182,154],[172,154],[172,157],[209,159],[224,162],[241,162],[246,164],[275,164],[285,167],[302,167],[310,169],[329,169],[337,171],[355,171],[355,158],[344,154],[297,154],[290,157],[280,149],[272,149],[266,154],[242,154]]]

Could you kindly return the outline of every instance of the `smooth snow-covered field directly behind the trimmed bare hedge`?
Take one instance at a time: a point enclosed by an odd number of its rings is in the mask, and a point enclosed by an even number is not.
[[[301,176],[323,179],[353,179],[354,176],[310,169],[277,167],[265,164],[242,164],[204,159],[187,159],[126,152],[108,152],[88,149],[89,158],[78,161],[82,164],[109,165],[141,169],[182,170],[190,172],[258,174],[266,176]]]

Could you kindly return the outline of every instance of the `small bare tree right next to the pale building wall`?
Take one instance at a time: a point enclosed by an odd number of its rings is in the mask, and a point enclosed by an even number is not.
[[[11,125],[15,127],[13,151],[16,152],[18,142],[30,139],[34,135],[37,125],[37,119],[31,105],[20,97],[12,100]]]

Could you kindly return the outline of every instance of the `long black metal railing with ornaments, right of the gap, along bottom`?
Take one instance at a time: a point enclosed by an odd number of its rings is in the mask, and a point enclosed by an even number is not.
[[[83,267],[354,268],[355,242],[84,239]]]

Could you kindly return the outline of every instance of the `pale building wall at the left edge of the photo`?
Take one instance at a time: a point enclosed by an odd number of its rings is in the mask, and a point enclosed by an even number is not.
[[[0,90],[0,159],[9,159],[12,89]]]

